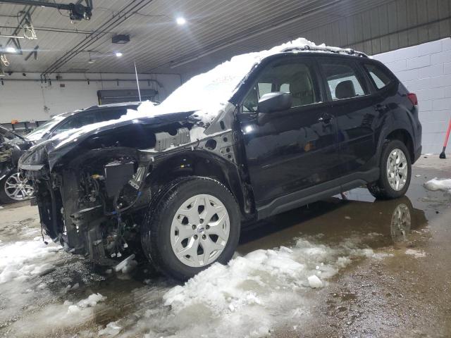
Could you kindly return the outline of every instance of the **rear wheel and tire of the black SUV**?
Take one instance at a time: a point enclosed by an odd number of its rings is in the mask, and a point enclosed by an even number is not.
[[[376,199],[397,199],[407,192],[412,176],[412,161],[407,146],[401,141],[383,144],[379,180],[367,185]]]

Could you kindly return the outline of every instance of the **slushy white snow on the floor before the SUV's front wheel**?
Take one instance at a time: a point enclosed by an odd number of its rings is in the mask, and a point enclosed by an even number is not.
[[[327,246],[320,238],[302,237],[290,248],[261,249],[228,265],[214,264],[183,286],[171,287],[164,279],[143,283],[126,294],[126,301],[117,288],[124,282],[116,277],[111,277],[111,289],[94,284],[73,289],[67,282],[45,280],[39,273],[50,268],[54,256],[68,255],[58,246],[38,239],[2,244],[0,290],[11,289],[14,296],[0,296],[7,303],[0,323],[16,313],[7,327],[13,337],[73,337],[73,332],[79,332],[76,337],[224,337],[225,332],[228,337],[266,337],[278,325],[302,325],[315,294],[340,269],[355,260],[378,259],[354,239]],[[116,267],[117,278],[132,261],[130,256]],[[108,299],[104,292],[110,293]],[[42,299],[39,307],[33,305],[36,298]],[[131,311],[117,310],[118,303],[127,302]],[[116,317],[96,323],[99,313],[115,311]]]

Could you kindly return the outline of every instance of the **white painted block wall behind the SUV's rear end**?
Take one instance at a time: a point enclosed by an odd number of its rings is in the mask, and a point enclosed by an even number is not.
[[[373,56],[418,96],[424,154],[442,151],[451,118],[451,38]],[[451,154],[451,141],[447,153]]]

